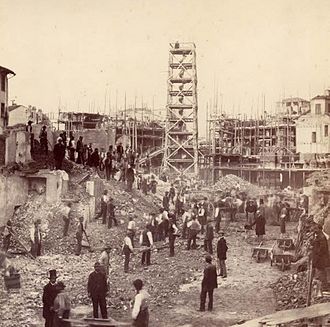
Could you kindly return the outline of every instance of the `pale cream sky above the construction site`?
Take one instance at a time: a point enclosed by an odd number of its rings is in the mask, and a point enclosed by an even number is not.
[[[219,106],[248,116],[262,112],[263,94],[267,110],[323,94],[329,14],[328,0],[0,0],[0,65],[17,74],[9,98],[45,112],[59,101],[103,112],[116,90],[118,107],[126,92],[128,106],[136,96],[165,108],[168,44],[194,42],[204,125],[215,88]]]

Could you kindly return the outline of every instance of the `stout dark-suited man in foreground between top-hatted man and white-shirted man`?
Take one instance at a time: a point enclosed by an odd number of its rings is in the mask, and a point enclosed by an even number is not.
[[[106,275],[102,272],[101,264],[96,262],[94,271],[88,277],[88,296],[92,298],[93,302],[93,317],[99,317],[99,306],[101,310],[102,319],[108,319],[107,303],[105,297],[108,293],[108,283]]]

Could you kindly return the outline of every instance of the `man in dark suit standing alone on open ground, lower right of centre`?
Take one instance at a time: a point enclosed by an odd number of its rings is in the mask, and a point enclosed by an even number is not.
[[[199,311],[205,311],[206,295],[209,295],[208,311],[213,310],[213,291],[218,288],[217,270],[212,264],[212,257],[207,255],[205,257],[206,267],[204,269],[204,277],[202,280],[202,290],[200,295]]]

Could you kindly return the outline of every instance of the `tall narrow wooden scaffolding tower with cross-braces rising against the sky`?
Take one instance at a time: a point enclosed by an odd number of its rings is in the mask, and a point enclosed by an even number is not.
[[[198,174],[196,46],[170,43],[164,166]]]

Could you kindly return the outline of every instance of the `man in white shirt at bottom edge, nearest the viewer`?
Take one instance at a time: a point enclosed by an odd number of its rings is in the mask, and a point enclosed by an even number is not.
[[[148,309],[148,299],[150,295],[148,292],[143,290],[143,282],[141,279],[136,279],[133,282],[134,288],[136,290],[136,295],[134,298],[132,319],[134,327],[148,327],[149,326],[149,309]]]

